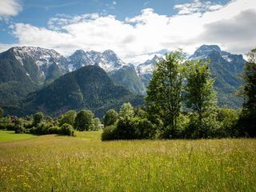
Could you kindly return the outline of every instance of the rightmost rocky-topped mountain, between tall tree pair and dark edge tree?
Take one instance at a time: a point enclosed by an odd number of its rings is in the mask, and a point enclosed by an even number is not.
[[[240,107],[242,98],[235,96],[242,85],[239,74],[242,74],[245,60],[242,54],[230,54],[222,51],[219,46],[200,46],[190,59],[210,59],[210,70],[215,78],[214,89],[218,92],[218,106]]]

